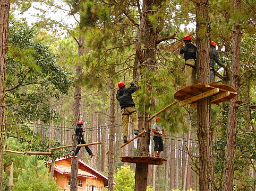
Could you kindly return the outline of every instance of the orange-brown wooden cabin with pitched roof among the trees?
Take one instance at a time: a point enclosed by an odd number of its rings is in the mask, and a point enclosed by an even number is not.
[[[51,164],[52,160],[45,162]],[[49,167],[49,172],[51,169]],[[62,157],[55,160],[54,178],[62,190],[70,190],[71,157]],[[114,182],[116,185],[116,183]],[[79,191],[104,191],[108,185],[108,177],[79,159],[78,163],[78,190]]]

